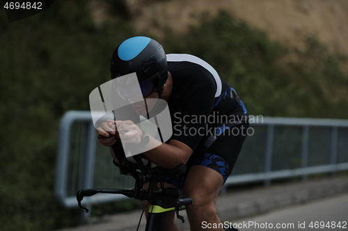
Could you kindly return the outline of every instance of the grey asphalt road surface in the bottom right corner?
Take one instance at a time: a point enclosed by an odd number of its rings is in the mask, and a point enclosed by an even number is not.
[[[333,222],[336,225],[340,222],[341,227],[336,226],[333,228]],[[348,194],[326,198],[304,205],[276,209],[268,214],[251,217],[242,221],[234,221],[234,223],[239,224],[239,230],[241,231],[348,230]],[[283,225],[283,228],[281,226],[280,228],[276,228],[277,224]],[[311,224],[313,228],[310,227]],[[326,226],[330,226],[330,228]]]

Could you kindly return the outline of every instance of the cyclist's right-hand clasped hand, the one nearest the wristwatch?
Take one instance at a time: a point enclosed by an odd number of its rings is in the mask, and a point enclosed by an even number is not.
[[[139,144],[141,142],[143,131],[133,121],[116,121],[116,125],[122,143]]]

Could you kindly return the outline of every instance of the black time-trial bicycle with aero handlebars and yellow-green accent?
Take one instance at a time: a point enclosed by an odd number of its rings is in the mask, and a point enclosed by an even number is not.
[[[113,146],[113,148],[114,147],[115,146]],[[177,219],[180,219],[182,223],[184,223],[184,217],[180,216],[179,211],[184,209],[184,206],[191,205],[192,198],[180,196],[180,192],[175,188],[165,188],[163,182],[164,178],[167,176],[182,176],[187,170],[187,166],[180,164],[174,169],[164,169],[160,166],[151,168],[149,164],[147,164],[147,166],[143,164],[141,154],[133,157],[136,160],[136,164],[127,162],[125,155],[120,155],[120,153],[117,155],[120,173],[122,175],[130,175],[135,178],[134,189],[81,189],[77,191],[77,202],[79,207],[88,212],[88,209],[81,205],[81,200],[83,200],[85,196],[93,196],[98,193],[122,194],[129,198],[149,202],[148,220],[146,222],[145,231],[165,230],[166,218],[170,212],[176,212]],[[150,179],[147,190],[143,189],[145,178]],[[161,187],[158,187],[158,185]],[[143,212],[145,212],[148,205],[144,207]],[[141,214],[141,218],[143,216],[143,212]],[[136,230],[139,230],[141,218]]]

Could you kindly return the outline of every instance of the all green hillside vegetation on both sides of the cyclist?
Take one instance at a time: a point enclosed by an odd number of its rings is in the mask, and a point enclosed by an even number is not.
[[[139,35],[128,17],[97,29],[85,1],[76,0],[56,2],[12,24],[0,15],[3,230],[77,225],[79,210],[58,207],[53,195],[58,122],[68,110],[88,110],[90,91],[109,80],[113,49]],[[221,12],[185,35],[168,29],[159,42],[167,53],[192,53],[211,63],[237,89],[250,114],[347,119],[344,57],[313,38],[305,51],[294,51]],[[290,55],[296,58],[290,61]]]

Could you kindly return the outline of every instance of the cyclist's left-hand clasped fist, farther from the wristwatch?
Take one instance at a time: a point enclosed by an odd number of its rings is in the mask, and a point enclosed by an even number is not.
[[[115,138],[116,135],[116,121],[108,119],[106,122],[102,123],[102,125],[97,128],[97,134],[100,144],[103,146],[109,147],[113,146],[117,142]]]

